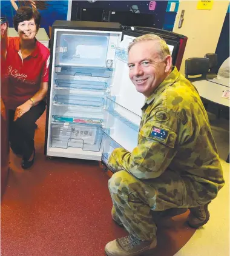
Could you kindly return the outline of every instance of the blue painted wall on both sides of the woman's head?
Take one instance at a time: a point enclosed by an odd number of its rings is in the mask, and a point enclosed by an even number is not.
[[[39,10],[42,15],[41,27],[44,27],[47,35],[48,27],[53,24],[56,19],[66,20],[68,12],[68,1],[45,1],[48,4],[46,10]],[[18,1],[16,1],[18,4]],[[18,4],[19,6],[19,4]],[[13,27],[13,16],[15,9],[12,7],[10,0],[1,1],[1,17],[6,17],[9,27]]]

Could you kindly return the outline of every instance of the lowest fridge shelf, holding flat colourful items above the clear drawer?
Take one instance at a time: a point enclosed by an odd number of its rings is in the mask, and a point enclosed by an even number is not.
[[[102,126],[102,120],[99,118],[82,118],[79,116],[61,116],[53,115],[53,122],[61,123],[77,123],[77,124],[92,124],[94,126]]]

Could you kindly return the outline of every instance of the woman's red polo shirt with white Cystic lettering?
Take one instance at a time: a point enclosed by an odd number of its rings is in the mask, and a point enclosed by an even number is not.
[[[48,82],[50,51],[41,42],[36,41],[35,50],[22,59],[19,37],[9,38],[7,56],[4,62],[5,86],[8,96],[5,102],[9,109],[25,103]]]

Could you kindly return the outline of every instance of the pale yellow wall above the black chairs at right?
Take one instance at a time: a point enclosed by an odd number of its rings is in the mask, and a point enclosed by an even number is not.
[[[188,36],[180,72],[185,72],[185,59],[215,53],[228,1],[214,1],[211,10],[197,10],[198,1],[180,1],[173,32]],[[180,13],[185,10],[182,28],[178,28]]]

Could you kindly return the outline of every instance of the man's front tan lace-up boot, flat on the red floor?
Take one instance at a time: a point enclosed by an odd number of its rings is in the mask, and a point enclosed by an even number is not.
[[[139,256],[143,252],[155,248],[156,238],[151,241],[140,241],[133,235],[122,237],[107,243],[105,254],[107,256]]]

